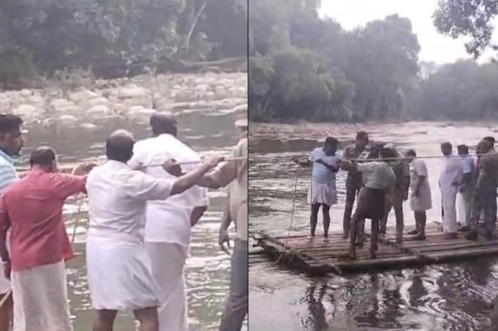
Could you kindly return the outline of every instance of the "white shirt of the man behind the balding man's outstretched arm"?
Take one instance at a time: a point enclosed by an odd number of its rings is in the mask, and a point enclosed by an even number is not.
[[[200,161],[198,154],[171,134],[161,134],[154,138],[135,143],[133,158],[129,165],[133,168],[142,165],[160,164],[170,158],[177,162]],[[189,172],[196,164],[181,165]],[[145,173],[154,178],[170,178],[161,166],[146,168]],[[209,203],[206,188],[194,186],[185,192],[174,195],[168,200],[151,201],[147,207],[145,225],[146,242],[169,242],[188,247],[191,237],[190,216],[194,207],[207,206]]]

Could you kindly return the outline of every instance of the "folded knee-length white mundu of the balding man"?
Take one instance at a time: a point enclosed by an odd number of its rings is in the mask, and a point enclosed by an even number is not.
[[[96,310],[159,307],[159,287],[141,244],[88,237],[88,285]]]

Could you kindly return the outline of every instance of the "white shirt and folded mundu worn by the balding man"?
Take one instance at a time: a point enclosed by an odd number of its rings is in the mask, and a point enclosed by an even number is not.
[[[107,161],[88,175],[88,284],[97,310],[159,306],[159,288],[144,247],[148,200],[166,199],[174,181]]]

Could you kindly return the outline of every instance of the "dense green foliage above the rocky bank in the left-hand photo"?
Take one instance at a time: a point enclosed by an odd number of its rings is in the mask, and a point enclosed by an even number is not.
[[[0,77],[245,56],[244,36],[245,0],[2,0]]]

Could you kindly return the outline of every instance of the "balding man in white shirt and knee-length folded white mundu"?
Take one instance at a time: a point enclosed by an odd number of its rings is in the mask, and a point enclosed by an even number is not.
[[[86,184],[90,215],[88,284],[97,310],[93,331],[112,330],[117,310],[133,310],[141,331],[159,330],[159,286],[144,246],[147,202],[166,200],[188,190],[223,160],[220,156],[208,157],[174,180],[154,178],[127,165],[133,146],[134,138],[127,131],[111,134],[106,143],[108,161],[90,172]],[[171,160],[162,168],[169,173],[181,172]]]

